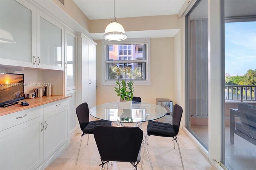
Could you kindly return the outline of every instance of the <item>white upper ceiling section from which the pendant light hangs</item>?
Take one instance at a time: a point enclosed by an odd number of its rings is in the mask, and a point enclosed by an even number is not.
[[[89,20],[114,17],[114,0],[74,0]],[[116,0],[116,18],[178,14],[185,0]]]

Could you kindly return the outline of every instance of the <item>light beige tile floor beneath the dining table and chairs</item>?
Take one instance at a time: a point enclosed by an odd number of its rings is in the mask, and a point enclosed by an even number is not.
[[[146,124],[147,123],[144,123],[142,126],[144,132],[146,132]],[[100,155],[92,134],[90,134],[88,146],[86,145],[87,135],[84,136],[78,158],[78,164],[75,164],[80,136],[81,134],[76,134],[73,138],[71,138],[68,148],[66,148],[66,150],[64,150],[62,154],[60,154],[60,156],[58,156],[58,158],[56,158],[46,168],[46,170],[100,170]],[[185,170],[216,169],[182,129],[180,129],[178,134],[178,141],[180,144]],[[148,139],[148,144],[148,151],[154,170],[182,170],[178,146],[176,145],[176,149],[174,149],[171,138],[150,136]],[[146,154],[142,165],[144,170],[151,170]],[[113,162],[113,165],[109,164],[108,170],[133,169],[134,168],[129,163]],[[140,164],[138,165],[138,170],[140,170]]]

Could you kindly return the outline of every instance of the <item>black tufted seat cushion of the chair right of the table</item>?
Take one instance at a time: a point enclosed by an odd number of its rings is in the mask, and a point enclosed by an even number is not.
[[[170,123],[149,121],[147,126],[148,135],[174,137],[176,133]]]

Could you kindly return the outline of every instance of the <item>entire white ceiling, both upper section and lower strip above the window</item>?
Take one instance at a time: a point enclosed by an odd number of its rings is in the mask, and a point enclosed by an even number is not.
[[[74,0],[89,20],[112,19],[114,0]],[[185,0],[116,0],[116,18],[160,16],[178,14]],[[126,32],[128,38],[174,37],[174,30],[147,30]],[[102,40],[104,33],[90,34],[94,40]]]

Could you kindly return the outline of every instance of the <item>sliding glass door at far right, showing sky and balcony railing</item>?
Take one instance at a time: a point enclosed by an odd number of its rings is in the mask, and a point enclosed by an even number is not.
[[[256,168],[256,1],[225,0],[222,6],[221,160],[229,170],[252,170]]]

